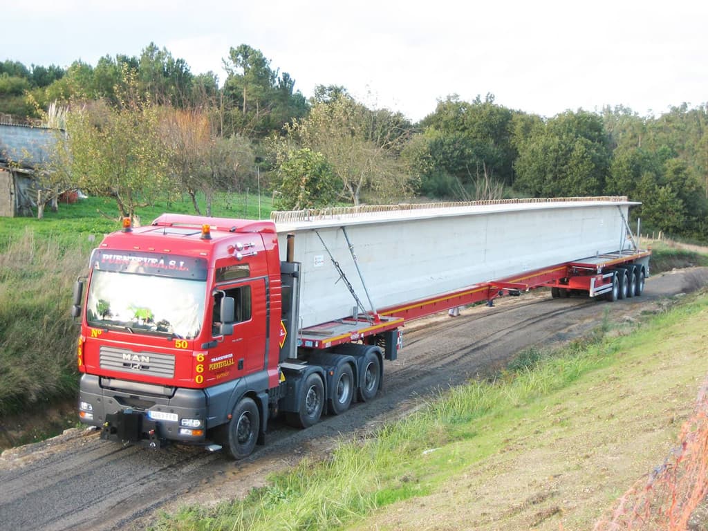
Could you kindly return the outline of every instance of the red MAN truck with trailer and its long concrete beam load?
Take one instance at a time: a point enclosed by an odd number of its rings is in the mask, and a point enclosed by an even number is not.
[[[409,319],[537,287],[553,297],[641,295],[650,253],[627,226],[633,204],[126,221],[93,251],[74,290],[79,416],[106,440],[246,457],[280,413],[306,428],[373,399]]]

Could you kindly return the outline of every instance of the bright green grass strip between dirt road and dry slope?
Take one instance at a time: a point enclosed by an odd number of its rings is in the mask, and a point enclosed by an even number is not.
[[[609,338],[605,324],[592,338],[560,350],[526,351],[496,379],[455,387],[362,441],[341,442],[326,459],[305,459],[271,476],[267,486],[243,500],[163,515],[155,529],[329,530],[360,522],[392,503],[426,496],[498,452],[513,426],[547,417],[545,397],[621,362],[628,350],[656,345],[667,329],[702,319],[706,309],[708,295],[703,293],[654,316],[629,336]]]

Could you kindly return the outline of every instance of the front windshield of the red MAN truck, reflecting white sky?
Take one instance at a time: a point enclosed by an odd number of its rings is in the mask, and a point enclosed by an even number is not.
[[[206,286],[202,280],[94,270],[86,319],[90,326],[192,339],[202,327]]]

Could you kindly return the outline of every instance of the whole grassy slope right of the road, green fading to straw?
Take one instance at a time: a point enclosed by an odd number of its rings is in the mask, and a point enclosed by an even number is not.
[[[158,527],[589,529],[667,455],[708,372],[707,316],[702,295],[631,336],[460,387],[245,501]]]

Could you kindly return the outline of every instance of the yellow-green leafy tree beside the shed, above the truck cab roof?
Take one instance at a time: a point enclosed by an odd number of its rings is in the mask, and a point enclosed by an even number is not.
[[[168,182],[156,105],[139,93],[135,72],[124,67],[122,76],[128,89],[119,94],[119,108],[103,101],[72,105],[65,164],[81,188],[115,199],[120,215],[132,219]]]

